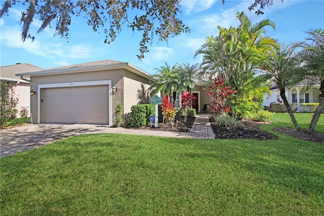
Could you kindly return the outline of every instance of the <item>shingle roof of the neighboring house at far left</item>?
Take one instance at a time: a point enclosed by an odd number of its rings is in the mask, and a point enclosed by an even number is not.
[[[44,70],[44,68],[37,67],[28,63],[8,65],[0,68],[0,77],[20,79],[20,77],[16,76],[15,74],[22,74],[39,70]]]

